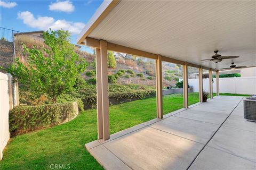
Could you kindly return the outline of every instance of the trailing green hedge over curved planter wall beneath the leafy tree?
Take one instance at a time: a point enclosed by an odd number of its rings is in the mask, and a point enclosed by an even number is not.
[[[74,102],[39,106],[17,106],[9,113],[11,135],[57,125],[75,117],[78,110]]]

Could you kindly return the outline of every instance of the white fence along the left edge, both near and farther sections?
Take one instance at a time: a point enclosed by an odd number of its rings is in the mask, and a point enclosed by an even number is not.
[[[0,72],[0,160],[3,158],[3,150],[8,140],[9,133],[9,111],[19,104],[18,86],[12,83],[11,74]]]

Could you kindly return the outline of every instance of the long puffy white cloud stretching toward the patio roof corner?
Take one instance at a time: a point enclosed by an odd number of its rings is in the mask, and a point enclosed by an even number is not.
[[[66,20],[55,20],[48,16],[38,16],[37,18],[29,11],[19,12],[18,19],[23,20],[23,23],[32,28],[41,30],[68,30],[72,34],[78,34],[84,28],[85,24],[82,22],[69,22]]]

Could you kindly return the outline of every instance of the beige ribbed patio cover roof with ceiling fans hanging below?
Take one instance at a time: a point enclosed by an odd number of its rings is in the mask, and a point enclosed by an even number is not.
[[[78,44],[87,37],[217,70],[255,66],[256,1],[104,1]],[[200,61],[216,49],[240,57]]]

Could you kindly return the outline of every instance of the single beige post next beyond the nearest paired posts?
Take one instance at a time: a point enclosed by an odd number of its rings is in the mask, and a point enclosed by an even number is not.
[[[157,118],[163,118],[162,56],[156,60],[156,110]]]

